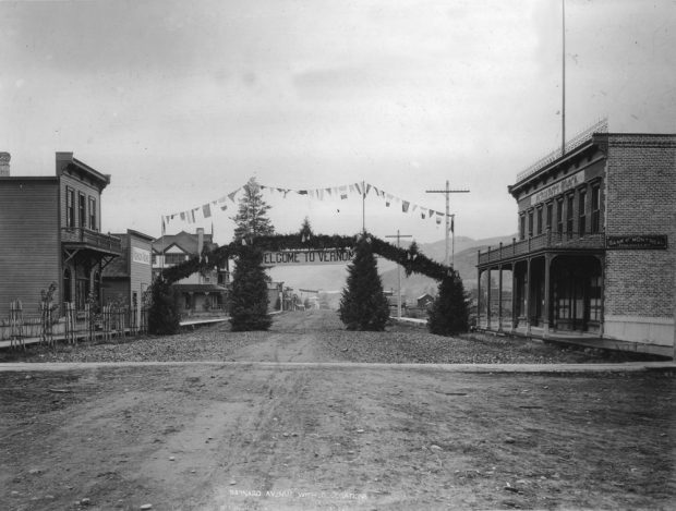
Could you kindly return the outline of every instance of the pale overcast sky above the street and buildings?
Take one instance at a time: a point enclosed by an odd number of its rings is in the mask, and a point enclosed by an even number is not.
[[[152,235],[255,175],[291,190],[365,180],[456,235],[516,231],[516,174],[560,143],[560,0],[0,1],[0,150],[111,174],[102,228]],[[676,1],[566,1],[566,133],[676,133]],[[266,196],[278,231],[361,229],[361,200]],[[232,235],[234,205],[203,223]],[[378,235],[444,238],[366,200]],[[197,218],[200,219],[200,218]]]

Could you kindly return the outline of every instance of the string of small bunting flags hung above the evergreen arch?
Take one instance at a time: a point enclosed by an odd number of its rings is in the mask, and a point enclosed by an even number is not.
[[[238,193],[243,188],[243,186],[238,187],[233,192],[230,192],[218,199],[210,200],[200,207],[195,207],[192,209],[188,209],[184,211],[171,214],[171,215],[162,215],[162,226],[165,229],[167,226],[176,219],[180,219],[182,222],[188,223],[196,223],[200,219],[213,218],[214,214],[219,209],[221,211],[226,211],[229,208],[229,202],[236,203],[236,197]],[[401,211],[405,214],[408,212],[419,212],[420,217],[424,219],[435,220],[436,224],[442,223],[442,219],[446,217],[446,214],[442,211],[437,211],[431,208],[426,208],[424,206],[418,205],[410,200],[406,200],[401,197],[398,197],[385,190],[377,187],[371,183],[366,182],[357,182],[350,184],[343,184],[340,186],[329,186],[329,187],[321,187],[321,188],[306,188],[306,190],[291,190],[287,187],[279,186],[268,186],[259,184],[257,185],[258,191],[269,191],[271,195],[280,194],[282,198],[288,198],[289,193],[293,193],[295,195],[306,196],[311,199],[325,200],[325,199],[339,199],[346,200],[351,195],[359,195],[361,198],[366,198],[369,194],[373,191],[373,195],[383,199],[385,203],[385,207],[391,207],[394,203],[397,205],[401,205]],[[195,215],[197,214],[197,216]],[[200,215],[201,214],[201,215]],[[455,229],[454,226],[454,215],[449,215],[451,217],[449,230],[452,232]],[[200,218],[198,218],[200,217]]]

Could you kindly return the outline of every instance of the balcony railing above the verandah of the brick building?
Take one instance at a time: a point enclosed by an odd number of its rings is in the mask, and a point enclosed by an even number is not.
[[[503,259],[548,248],[605,248],[605,233],[586,233],[580,235],[577,232],[548,231],[526,240],[515,240],[508,245],[499,245],[496,248],[488,248],[486,252],[479,253],[479,265],[496,263]]]

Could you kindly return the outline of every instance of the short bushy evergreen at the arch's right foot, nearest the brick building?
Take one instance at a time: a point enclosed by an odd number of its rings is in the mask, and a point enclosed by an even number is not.
[[[427,329],[439,336],[454,336],[469,329],[469,307],[462,279],[457,271],[442,280],[427,319]]]

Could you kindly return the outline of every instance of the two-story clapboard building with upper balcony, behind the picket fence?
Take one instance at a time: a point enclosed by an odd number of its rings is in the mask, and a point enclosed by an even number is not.
[[[100,300],[102,270],[121,254],[120,239],[101,232],[110,175],[72,153],[57,153],[52,177],[12,177],[10,155],[0,160],[0,311],[14,300],[37,311],[52,282],[59,305]]]

